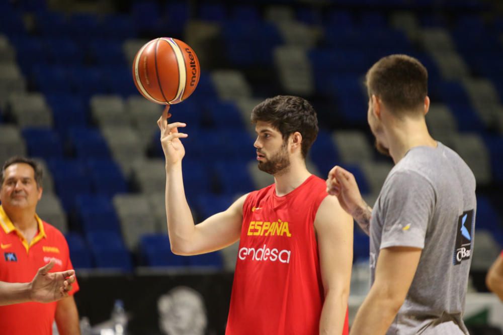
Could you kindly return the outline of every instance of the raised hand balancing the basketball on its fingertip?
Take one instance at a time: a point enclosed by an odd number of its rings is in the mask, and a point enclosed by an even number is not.
[[[186,124],[181,122],[170,124],[167,122],[171,117],[169,109],[170,105],[166,105],[161,117],[157,120],[157,126],[160,129],[160,142],[166,158],[166,164],[176,164],[181,162],[185,156],[185,148],[180,139],[186,138],[188,135],[178,132],[178,127],[185,127]]]

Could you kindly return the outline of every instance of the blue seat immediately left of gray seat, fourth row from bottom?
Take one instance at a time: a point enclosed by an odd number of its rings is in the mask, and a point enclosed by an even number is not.
[[[75,156],[86,158],[110,158],[105,139],[97,129],[77,127],[68,129],[68,140]]]

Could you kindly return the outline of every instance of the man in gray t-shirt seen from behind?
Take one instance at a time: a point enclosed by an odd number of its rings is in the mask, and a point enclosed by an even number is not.
[[[426,127],[428,73],[391,55],[367,72],[368,122],[395,166],[370,208],[334,167],[327,191],[370,236],[372,286],[351,334],[468,334],[463,310],[475,228],[475,178]]]

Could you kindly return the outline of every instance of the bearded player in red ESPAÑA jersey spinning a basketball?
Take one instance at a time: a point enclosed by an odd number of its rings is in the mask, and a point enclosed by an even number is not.
[[[199,225],[182,178],[180,139],[188,135],[178,128],[185,124],[167,124],[168,117],[165,110],[158,125],[173,252],[197,255],[240,240],[226,334],[347,334],[352,218],[306,168],[318,133],[313,107],[299,97],[276,96],[254,108],[258,165],[275,183]]]

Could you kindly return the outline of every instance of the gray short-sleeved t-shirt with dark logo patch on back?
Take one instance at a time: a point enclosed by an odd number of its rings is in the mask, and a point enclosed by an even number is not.
[[[379,251],[421,248],[395,334],[468,334],[463,309],[475,228],[475,177],[453,150],[415,147],[388,174],[372,210],[372,283]]]

